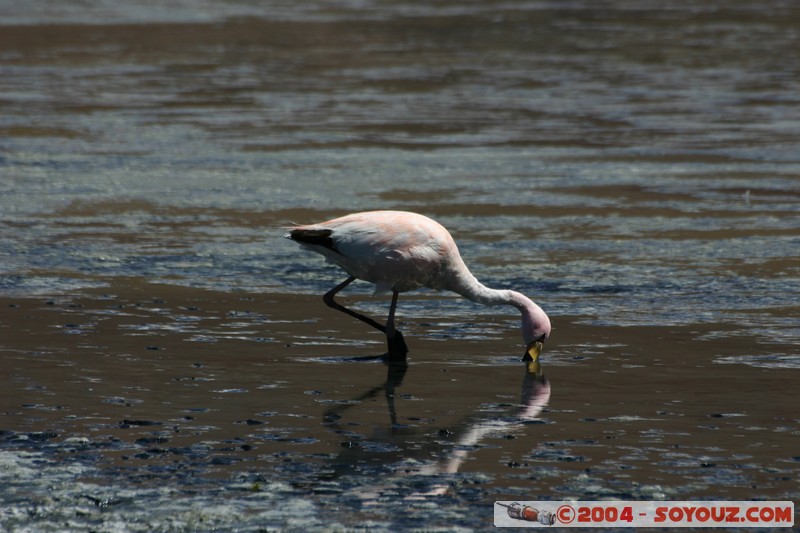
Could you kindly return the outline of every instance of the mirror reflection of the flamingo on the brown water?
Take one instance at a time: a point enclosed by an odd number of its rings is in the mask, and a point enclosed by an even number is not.
[[[383,384],[372,387],[352,400],[327,410],[323,417],[325,423],[337,433],[348,433],[347,424],[342,422],[345,412],[363,401],[383,393],[387,403],[391,437],[399,441],[408,437],[414,438],[415,431],[413,429],[398,423],[397,407],[395,405],[395,391],[402,384],[406,370],[406,364],[389,365],[386,381]],[[550,400],[550,392],[550,382],[544,376],[540,363],[528,363],[523,372],[520,404],[513,407],[507,415],[495,414],[490,417],[468,419],[459,429],[454,431],[455,441],[452,445],[437,444],[440,448],[442,446],[449,448],[437,450],[436,455],[443,456],[440,459],[419,461],[415,457],[418,453],[415,452],[418,452],[420,448],[429,449],[429,447],[428,445],[421,445],[417,438],[414,438],[411,446],[396,445],[399,443],[387,445],[387,451],[391,450],[395,453],[384,455],[384,461],[381,462],[396,461],[398,465],[402,465],[402,468],[393,469],[395,473],[385,481],[369,487],[361,486],[358,491],[358,498],[365,502],[375,500],[380,493],[391,487],[393,482],[397,483],[400,479],[410,476],[430,478],[430,484],[425,484],[426,490],[415,492],[406,496],[406,498],[419,499],[445,494],[450,488],[450,483],[440,481],[437,477],[456,474],[467,460],[469,454],[478,449],[478,445],[485,438],[500,432],[518,431],[526,422],[536,420],[542,409],[547,406]],[[337,472],[334,477],[358,471],[359,463],[364,461],[365,454],[359,450],[359,446],[346,446],[345,448],[347,449],[340,453],[335,460]]]

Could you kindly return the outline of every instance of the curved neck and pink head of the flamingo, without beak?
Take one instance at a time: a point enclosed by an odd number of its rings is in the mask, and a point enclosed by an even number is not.
[[[458,276],[450,287],[464,298],[483,305],[513,305],[522,313],[522,337],[526,344],[550,335],[550,319],[541,307],[516,291],[491,289],[471,273]]]

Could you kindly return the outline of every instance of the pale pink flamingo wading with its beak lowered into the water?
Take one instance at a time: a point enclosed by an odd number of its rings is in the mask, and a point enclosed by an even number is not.
[[[323,301],[386,335],[389,356],[408,352],[395,327],[401,292],[419,287],[448,290],[484,305],[511,305],[522,314],[524,361],[538,361],[550,336],[550,319],[527,296],[511,290],[490,289],[479,282],[461,259],[453,237],[438,222],[406,211],[353,213],[319,224],[289,228],[286,238],[322,254],[349,277],[328,291]],[[334,297],[356,279],[375,284],[375,294],[392,292],[386,324],[339,304]]]

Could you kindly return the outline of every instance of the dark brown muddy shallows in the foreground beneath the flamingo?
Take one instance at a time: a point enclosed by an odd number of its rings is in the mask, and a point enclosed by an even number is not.
[[[800,493],[794,371],[741,357],[791,347],[724,325],[554,317],[537,374],[502,322],[433,313],[402,317],[407,367],[364,360],[380,336],[309,295],[127,279],[0,313],[9,530],[470,529],[495,500]]]

